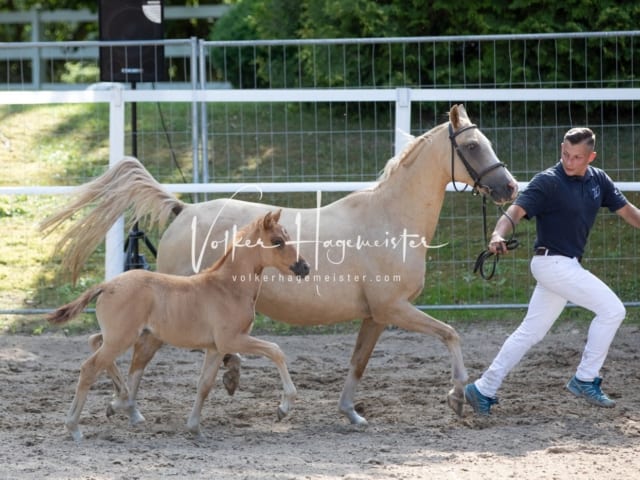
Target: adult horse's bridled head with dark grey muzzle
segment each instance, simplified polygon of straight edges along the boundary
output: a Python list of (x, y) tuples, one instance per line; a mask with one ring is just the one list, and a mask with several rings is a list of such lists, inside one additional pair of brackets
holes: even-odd
[(515, 199), (518, 183), (462, 105), (454, 105), (449, 112), (449, 139), (454, 180), (471, 185), (497, 204)]

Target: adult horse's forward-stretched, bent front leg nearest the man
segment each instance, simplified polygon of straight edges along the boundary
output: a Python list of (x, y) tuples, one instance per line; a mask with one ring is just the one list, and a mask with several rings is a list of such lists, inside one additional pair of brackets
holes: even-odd
[[(374, 315), (374, 318), (377, 313)], [(384, 317), (388, 323), (411, 332), (426, 333), (438, 337), (449, 349), (451, 354), (451, 370), (453, 388), (447, 395), (447, 404), (457, 415), (462, 415), (464, 405), (464, 384), (469, 378), (462, 359), (460, 336), (458, 332), (446, 323), (436, 320), (418, 310), (409, 302), (387, 306)]]

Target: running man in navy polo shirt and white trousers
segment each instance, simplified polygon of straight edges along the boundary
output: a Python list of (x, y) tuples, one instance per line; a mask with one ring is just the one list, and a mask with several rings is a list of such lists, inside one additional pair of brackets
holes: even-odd
[(566, 388), (593, 405), (615, 405), (601, 389), (600, 368), (626, 312), (618, 296), (580, 261), (601, 207), (636, 228), (640, 228), (640, 210), (627, 201), (603, 170), (590, 165), (596, 158), (595, 140), (588, 128), (569, 130), (560, 145), (560, 161), (535, 175), (507, 209), (510, 219), (503, 215), (496, 223), (489, 250), (505, 253), (505, 237), (511, 229), (522, 218), (535, 217), (531, 273), (537, 284), (520, 326), (482, 376), (465, 387), (467, 402), (476, 414), (490, 414), (491, 406), (498, 403), (496, 393), (504, 378), (542, 340), (567, 302), (591, 310), (595, 317), (580, 364)]

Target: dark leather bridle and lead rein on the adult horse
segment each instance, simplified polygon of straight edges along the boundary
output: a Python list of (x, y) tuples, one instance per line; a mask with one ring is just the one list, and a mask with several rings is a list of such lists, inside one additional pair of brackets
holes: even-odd
[[(454, 151), (455, 151), (455, 152), (458, 153), (458, 157), (462, 161), (462, 164), (467, 169), (467, 172), (469, 173), (469, 176), (473, 180), (473, 187), (472, 187), (473, 194), (474, 195), (478, 194), (481, 188), (483, 190), (486, 190), (487, 193), (491, 193), (491, 187), (489, 187), (487, 185), (483, 185), (481, 183), (482, 177), (484, 177), (487, 173), (492, 172), (496, 168), (500, 168), (500, 167), (507, 168), (507, 166), (502, 162), (494, 163), (493, 165), (490, 165), (487, 168), (485, 168), (484, 170), (482, 170), (480, 173), (478, 173), (471, 166), (469, 161), (465, 158), (464, 154), (462, 153), (462, 150), (460, 149), (460, 145), (458, 145), (458, 142), (456, 142), (456, 137), (458, 135), (460, 135), (462, 132), (466, 132), (467, 130), (471, 130), (473, 128), (478, 128), (478, 126), (472, 123), (471, 125), (467, 125), (466, 127), (462, 127), (457, 132), (454, 132), (453, 131), (453, 126), (451, 125), (451, 122), (449, 122), (449, 140), (451, 140), (451, 183), (453, 183), (453, 188), (454, 188), (454, 190), (456, 192), (464, 191), (467, 188), (467, 185), (465, 185), (465, 187), (462, 190), (458, 190), (458, 187), (456, 186), (456, 182), (455, 182), (455, 178), (454, 178), (454, 164), (455, 164)], [(509, 221), (511, 222), (511, 225), (512, 225), (511, 238), (509, 238), (505, 243), (506, 243), (506, 246), (507, 246), (507, 250), (513, 250), (514, 248), (518, 247), (518, 240), (515, 238), (515, 233), (516, 233), (515, 223), (511, 219), (511, 217), (509, 217), (507, 212), (504, 211), (504, 209), (502, 207), (498, 207), (498, 208), (499, 208), (500, 212), (502, 213), (502, 215), (505, 215), (509, 219)], [(482, 227), (483, 227), (483, 230), (484, 230), (484, 241), (485, 241), (485, 244), (488, 244), (489, 243), (489, 238), (488, 238), (488, 235), (487, 235), (487, 197), (486, 197), (486, 195), (482, 196)], [(473, 273), (479, 272), (480, 276), (482, 278), (484, 278), (485, 280), (490, 280), (491, 277), (493, 277), (493, 274), (496, 271), (496, 267), (498, 265), (498, 259), (500, 258), (500, 255), (499, 254), (495, 255), (492, 267), (491, 267), (491, 269), (490, 269), (490, 271), (488, 273), (485, 271), (484, 262), (486, 260), (488, 260), (490, 257), (492, 257), (493, 255), (494, 254), (489, 249), (483, 250), (480, 253), (480, 255), (478, 255), (478, 258), (476, 259), (476, 263), (475, 263), (474, 268), (473, 268)]]

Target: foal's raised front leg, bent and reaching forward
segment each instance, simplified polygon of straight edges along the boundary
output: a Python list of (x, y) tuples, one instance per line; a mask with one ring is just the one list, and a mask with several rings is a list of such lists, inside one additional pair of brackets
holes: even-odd
[(233, 352), (252, 353), (262, 355), (275, 363), (282, 380), (282, 400), (278, 406), (278, 420), (282, 420), (291, 410), (291, 406), (296, 398), (297, 391), (293, 385), (287, 362), (280, 347), (272, 342), (241, 334), (224, 343), (225, 348)]

